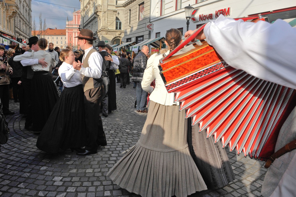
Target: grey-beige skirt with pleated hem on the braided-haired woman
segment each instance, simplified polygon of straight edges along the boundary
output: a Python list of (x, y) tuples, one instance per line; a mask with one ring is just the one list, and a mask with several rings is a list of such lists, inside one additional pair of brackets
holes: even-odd
[(107, 176), (142, 197), (185, 197), (206, 190), (188, 149), (187, 122), (179, 106), (150, 101), (141, 137)]

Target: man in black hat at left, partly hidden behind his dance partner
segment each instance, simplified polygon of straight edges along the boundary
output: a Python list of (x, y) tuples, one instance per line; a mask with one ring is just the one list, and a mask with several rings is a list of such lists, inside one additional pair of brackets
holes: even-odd
[[(38, 51), (38, 40), (39, 38), (37, 36), (33, 36), (29, 38), (29, 43), (27, 44), (30, 49), (28, 51), (25, 51), (24, 54), (30, 53), (32, 51)], [(25, 120), (25, 129), (32, 131), (33, 125), (32, 125), (32, 108), (31, 108), (31, 80), (34, 75), (34, 71), (31, 68), (31, 65), (33, 64), (41, 64), (44, 67), (47, 67), (47, 62), (44, 61), (45, 58), (42, 59), (24, 59), (21, 60), (20, 63), (23, 66), (22, 69), (22, 77), (20, 81), (17, 83), (20, 85), (20, 92), (23, 94), (23, 99), (20, 100), (20, 113), (27, 114), (26, 120)]]

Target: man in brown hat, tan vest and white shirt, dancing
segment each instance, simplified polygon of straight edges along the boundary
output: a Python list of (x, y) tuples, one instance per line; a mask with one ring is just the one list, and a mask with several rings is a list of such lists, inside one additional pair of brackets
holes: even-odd
[[(78, 38), (78, 44), (85, 51), (82, 64), (73, 62), (73, 68), (83, 74), (82, 85), (84, 91), (86, 130), (89, 132), (89, 142), (83, 152), (77, 155), (96, 154), (98, 146), (106, 146), (106, 136), (100, 117), (100, 108), (104, 86), (102, 82), (102, 56), (94, 49), (93, 41), (96, 40), (93, 32), (82, 29)], [(99, 120), (99, 121), (98, 121)]]

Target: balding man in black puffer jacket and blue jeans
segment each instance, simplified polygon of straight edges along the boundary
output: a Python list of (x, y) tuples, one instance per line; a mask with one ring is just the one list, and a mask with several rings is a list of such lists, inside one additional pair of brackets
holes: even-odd
[(142, 46), (141, 52), (133, 59), (133, 76), (132, 81), (137, 83), (136, 95), (137, 95), (137, 112), (146, 113), (146, 100), (148, 93), (142, 89), (141, 82), (143, 80), (144, 70), (147, 65), (147, 56), (149, 53), (148, 46)]

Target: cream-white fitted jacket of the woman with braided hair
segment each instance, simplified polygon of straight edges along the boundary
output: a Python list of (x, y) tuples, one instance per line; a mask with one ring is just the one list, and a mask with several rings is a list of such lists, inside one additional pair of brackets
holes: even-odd
[[(167, 51), (165, 54), (169, 54)], [(179, 102), (174, 102), (174, 93), (168, 93), (160, 76), (158, 68), (159, 60), (163, 55), (153, 54), (147, 60), (147, 67), (144, 71), (143, 80), (141, 82), (144, 91), (151, 93), (149, 99), (161, 105), (179, 105)], [(150, 86), (151, 82), (155, 80), (155, 89)]]

